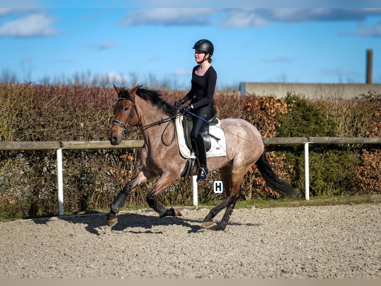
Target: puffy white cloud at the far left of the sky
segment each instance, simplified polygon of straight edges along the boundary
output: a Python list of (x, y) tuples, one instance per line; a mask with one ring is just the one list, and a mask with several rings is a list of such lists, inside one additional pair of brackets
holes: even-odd
[(59, 33), (58, 30), (52, 28), (53, 23), (53, 17), (44, 13), (33, 13), (5, 22), (0, 26), (0, 36), (51, 36)]

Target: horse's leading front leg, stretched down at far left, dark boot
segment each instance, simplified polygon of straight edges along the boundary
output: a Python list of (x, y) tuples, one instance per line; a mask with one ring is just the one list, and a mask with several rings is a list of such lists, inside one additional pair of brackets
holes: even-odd
[(153, 178), (154, 175), (152, 175), (149, 172), (146, 172), (144, 170), (141, 170), (139, 174), (133, 178), (131, 181), (126, 183), (122, 190), (119, 192), (117, 197), (114, 199), (114, 201), (110, 204), (110, 213), (107, 216), (107, 226), (113, 226), (118, 222), (118, 218), (116, 214), (119, 212), (120, 207), (126, 200), (129, 192), (136, 186), (145, 183), (149, 179)]

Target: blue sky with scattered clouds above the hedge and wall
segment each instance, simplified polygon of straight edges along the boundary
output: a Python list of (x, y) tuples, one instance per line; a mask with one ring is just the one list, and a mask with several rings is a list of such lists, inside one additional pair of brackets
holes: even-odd
[(238, 89), (240, 82), (365, 83), (367, 49), (373, 83), (381, 84), (381, 8), (356, 7), (356, 1), (346, 1), (348, 8), (273, 7), (280, 1), (261, 1), (264, 8), (239, 7), (252, 1), (237, 1), (236, 8), (183, 8), (165, 0), (160, 3), (173, 8), (155, 7), (156, 1), (129, 1), (150, 8), (123, 7), (123, 1), (76, 8), (70, 1), (66, 7), (8, 2), (0, 8), (0, 79), (57, 82), (77, 74), (189, 89), (196, 64), (191, 47), (206, 38), (214, 44), (219, 90)]

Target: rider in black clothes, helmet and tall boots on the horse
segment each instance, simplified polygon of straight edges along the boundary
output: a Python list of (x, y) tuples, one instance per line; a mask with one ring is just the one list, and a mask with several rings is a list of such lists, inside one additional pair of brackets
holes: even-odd
[[(191, 131), (191, 143), (199, 162), (197, 182), (206, 179), (208, 169), (206, 167), (205, 143), (200, 135), (202, 128), (207, 124), (214, 113), (213, 95), (217, 82), (217, 73), (211, 66), (211, 56), (214, 47), (209, 40), (197, 41), (193, 49), (194, 57), (198, 65), (193, 67), (191, 90), (181, 100), (175, 102), (175, 107), (179, 107), (191, 100), (191, 103), (180, 110), (180, 113), (192, 112), (197, 117), (193, 117), (193, 128)], [(202, 120), (202, 119), (203, 120)], [(205, 121), (204, 121), (205, 120)]]

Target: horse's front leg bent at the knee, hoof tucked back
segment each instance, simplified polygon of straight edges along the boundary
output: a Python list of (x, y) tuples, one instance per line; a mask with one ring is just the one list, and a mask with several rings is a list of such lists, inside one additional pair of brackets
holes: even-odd
[(173, 207), (167, 209), (163, 205), (161, 205), (157, 200), (156, 197), (164, 192), (170, 185), (172, 185), (174, 182), (176, 182), (176, 179), (173, 178), (171, 175), (162, 175), (161, 178), (156, 183), (155, 187), (152, 191), (147, 195), (147, 203), (148, 205), (154, 209), (160, 217), (165, 216), (182, 216), (181, 212), (177, 209), (174, 209)]

